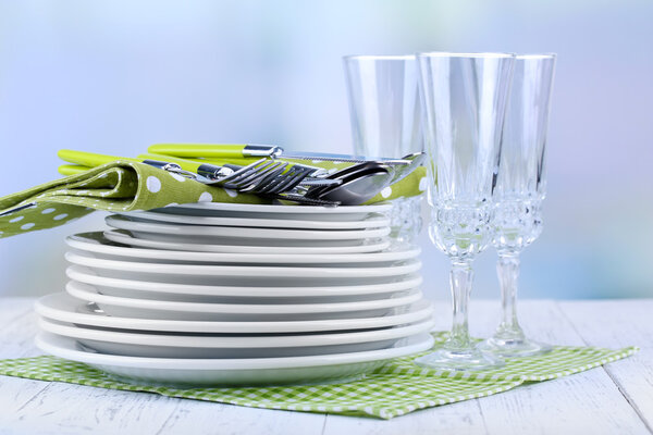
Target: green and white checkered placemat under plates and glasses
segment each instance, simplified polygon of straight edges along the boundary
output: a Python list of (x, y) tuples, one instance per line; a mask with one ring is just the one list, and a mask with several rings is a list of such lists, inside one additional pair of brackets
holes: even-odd
[[(434, 335), (440, 344), (446, 333)], [(56, 357), (0, 360), (0, 374), (245, 407), (392, 419), (418, 409), (490, 396), (525, 383), (578, 373), (629, 357), (638, 350), (637, 347), (611, 350), (556, 346), (543, 356), (508, 360), (504, 368), (485, 372), (422, 369), (412, 364), (419, 356), (415, 355), (392, 360), (360, 381), (275, 387), (176, 389), (133, 385), (118, 382), (86, 364)]]

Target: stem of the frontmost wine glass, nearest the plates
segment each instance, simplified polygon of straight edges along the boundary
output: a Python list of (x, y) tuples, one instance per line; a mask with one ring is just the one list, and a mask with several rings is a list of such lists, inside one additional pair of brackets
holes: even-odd
[(471, 261), (452, 261), (451, 286), (454, 304), (454, 323), (449, 338), (444, 345), (448, 349), (469, 349), (471, 347), (467, 325), (467, 308), (469, 306), (472, 278)]

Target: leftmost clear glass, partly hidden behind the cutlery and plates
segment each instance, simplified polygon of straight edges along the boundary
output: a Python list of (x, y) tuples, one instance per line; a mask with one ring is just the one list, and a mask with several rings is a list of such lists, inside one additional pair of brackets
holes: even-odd
[[(343, 58), (354, 152), (399, 158), (423, 150), (414, 55)], [(392, 201), (391, 236), (411, 243), (421, 231), (421, 197)]]

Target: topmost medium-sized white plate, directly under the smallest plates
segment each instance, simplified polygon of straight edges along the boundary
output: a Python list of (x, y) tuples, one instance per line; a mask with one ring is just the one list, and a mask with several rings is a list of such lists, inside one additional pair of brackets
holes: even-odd
[(365, 263), (367, 266), (383, 268), (392, 265), (397, 261), (416, 258), (420, 250), (403, 245), (384, 252), (369, 253), (332, 253), (332, 254), (285, 254), (279, 253), (220, 253), (220, 252), (189, 252), (170, 251), (159, 249), (138, 249), (115, 245), (108, 240), (101, 232), (81, 233), (69, 236), (65, 243), (85, 252), (91, 252), (94, 257), (113, 259), (121, 261), (148, 262), (193, 262), (193, 263), (239, 263), (257, 264), (269, 263), (280, 265), (291, 264), (325, 264), (330, 266), (350, 266)]

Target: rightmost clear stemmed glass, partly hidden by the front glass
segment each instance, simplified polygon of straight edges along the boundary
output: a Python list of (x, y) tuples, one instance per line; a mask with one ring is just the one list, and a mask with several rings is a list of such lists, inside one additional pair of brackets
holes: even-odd
[(502, 321), (480, 348), (503, 358), (543, 353), (551, 347), (529, 340), (517, 321), (519, 252), (542, 233), (546, 191), (545, 154), (555, 54), (515, 58), (515, 73), (502, 137), (501, 171), (494, 191), (496, 271)]

